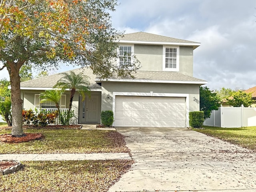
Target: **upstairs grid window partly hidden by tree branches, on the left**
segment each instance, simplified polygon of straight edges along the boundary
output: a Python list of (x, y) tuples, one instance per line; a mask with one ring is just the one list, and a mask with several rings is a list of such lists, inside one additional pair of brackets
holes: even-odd
[(132, 45), (119, 46), (119, 66), (130, 65), (132, 63), (132, 52), (134, 47)]

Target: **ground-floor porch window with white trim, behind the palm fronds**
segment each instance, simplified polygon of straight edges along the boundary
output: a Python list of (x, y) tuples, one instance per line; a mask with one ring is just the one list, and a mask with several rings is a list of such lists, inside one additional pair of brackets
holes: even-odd
[[(60, 108), (66, 108), (66, 95), (62, 95), (60, 98)], [(36, 108), (43, 108), (43, 109), (54, 109), (56, 108), (56, 105), (54, 102), (43, 102), (40, 103), (40, 94), (35, 94), (35, 102), (34, 102), (34, 106)]]

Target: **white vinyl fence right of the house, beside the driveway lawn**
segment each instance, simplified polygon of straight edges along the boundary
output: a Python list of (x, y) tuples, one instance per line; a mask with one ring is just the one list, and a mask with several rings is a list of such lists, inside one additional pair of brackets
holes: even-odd
[(223, 128), (256, 126), (256, 108), (221, 106), (211, 112), (211, 117), (204, 121), (204, 125)]

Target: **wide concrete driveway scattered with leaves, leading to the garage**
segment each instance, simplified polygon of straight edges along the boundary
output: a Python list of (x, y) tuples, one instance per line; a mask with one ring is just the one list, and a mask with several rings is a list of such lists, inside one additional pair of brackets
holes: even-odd
[(136, 161), (109, 192), (256, 192), (256, 153), (186, 128), (116, 128)]

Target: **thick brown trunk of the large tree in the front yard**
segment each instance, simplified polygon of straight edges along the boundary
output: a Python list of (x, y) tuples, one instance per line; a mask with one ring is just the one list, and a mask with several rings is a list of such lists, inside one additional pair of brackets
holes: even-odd
[(22, 99), (20, 97), (19, 70), (24, 62), (7, 62), (10, 75), (11, 100), (12, 100), (12, 136), (22, 136)]

